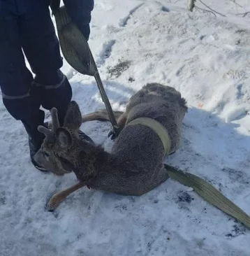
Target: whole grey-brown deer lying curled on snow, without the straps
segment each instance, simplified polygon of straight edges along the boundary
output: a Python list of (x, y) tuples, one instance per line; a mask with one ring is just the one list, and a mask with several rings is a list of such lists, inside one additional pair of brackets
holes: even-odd
[(164, 149), (159, 136), (143, 125), (126, 126), (135, 118), (152, 118), (168, 130), (170, 153), (179, 148), (182, 121), (187, 111), (186, 101), (172, 87), (149, 83), (135, 93), (124, 113), (116, 113), (119, 127), (111, 152), (101, 145), (81, 140), (78, 130), (83, 121), (108, 120), (105, 111), (82, 116), (78, 104), (71, 101), (59, 127), (57, 110), (52, 109), (52, 130), (38, 127), (45, 140), (35, 159), (46, 169), (64, 174), (73, 171), (80, 182), (68, 190), (54, 194), (48, 202), (49, 210), (56, 208), (68, 194), (87, 185), (95, 190), (140, 196), (154, 189), (168, 174), (163, 166)]

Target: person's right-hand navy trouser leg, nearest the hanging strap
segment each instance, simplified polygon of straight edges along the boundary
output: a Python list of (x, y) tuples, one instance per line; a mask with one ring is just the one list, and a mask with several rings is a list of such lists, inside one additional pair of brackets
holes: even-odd
[(41, 104), (45, 109), (57, 108), (60, 124), (71, 101), (72, 90), (61, 73), (63, 64), (59, 41), (54, 31), (46, 1), (30, 3), (29, 13), (20, 22), (22, 48), (36, 74), (34, 86), (41, 88)]

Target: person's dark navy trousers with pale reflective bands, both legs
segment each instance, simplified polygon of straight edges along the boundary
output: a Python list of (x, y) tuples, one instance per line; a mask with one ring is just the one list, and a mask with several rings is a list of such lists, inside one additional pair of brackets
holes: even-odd
[[(3, 104), (13, 118), (29, 124), (44, 116), (39, 111), (41, 106), (48, 110), (56, 107), (59, 118), (64, 118), (72, 97), (71, 85), (60, 71), (63, 62), (49, 3), (50, 0), (0, 0)], [(34, 76), (27, 69), (24, 55)]]

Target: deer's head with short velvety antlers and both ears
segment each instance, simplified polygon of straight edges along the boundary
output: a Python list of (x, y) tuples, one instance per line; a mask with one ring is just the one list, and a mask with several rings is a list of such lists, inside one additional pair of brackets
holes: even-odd
[(82, 125), (82, 115), (78, 104), (71, 101), (64, 119), (63, 127), (59, 126), (57, 108), (50, 111), (52, 129), (39, 126), (38, 131), (45, 134), (40, 150), (34, 156), (35, 161), (52, 173), (62, 175), (73, 171), (78, 161), (80, 143), (78, 130)]

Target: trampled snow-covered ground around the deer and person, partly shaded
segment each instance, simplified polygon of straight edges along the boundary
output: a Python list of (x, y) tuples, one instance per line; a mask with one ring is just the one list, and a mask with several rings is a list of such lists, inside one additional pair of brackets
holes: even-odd
[[(250, 2), (204, 2), (227, 17), (190, 13), (186, 1), (98, 0), (89, 45), (115, 110), (145, 83), (182, 93), (182, 145), (166, 162), (209, 180), (250, 214), (250, 14), (235, 15)], [(103, 107), (94, 78), (63, 69), (82, 113)], [(3, 104), (0, 117), (1, 256), (250, 255), (249, 230), (173, 180), (142, 197), (84, 188), (45, 211), (75, 176), (34, 169), (24, 128)], [(108, 123), (82, 130), (112, 147)]]

